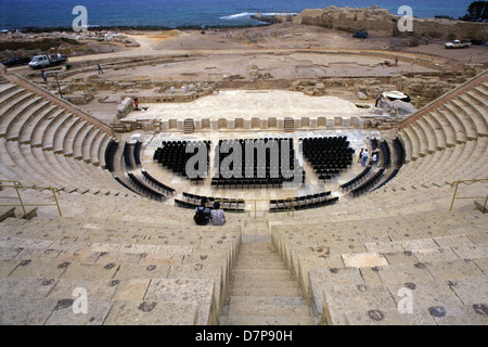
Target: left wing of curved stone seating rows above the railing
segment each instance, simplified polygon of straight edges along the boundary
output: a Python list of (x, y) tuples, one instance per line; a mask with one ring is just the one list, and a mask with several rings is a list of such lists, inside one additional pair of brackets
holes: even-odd
[(0, 107), (4, 179), (68, 192), (132, 194), (103, 169), (112, 134), (5, 79)]

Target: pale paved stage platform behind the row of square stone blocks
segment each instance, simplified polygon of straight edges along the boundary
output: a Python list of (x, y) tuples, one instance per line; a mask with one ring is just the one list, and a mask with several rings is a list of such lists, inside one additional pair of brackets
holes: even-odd
[(145, 112), (132, 111), (124, 119), (169, 120), (270, 119), (294, 117), (334, 118), (370, 115), (368, 110), (336, 97), (308, 97), (287, 90), (222, 90), (187, 103), (143, 103)]

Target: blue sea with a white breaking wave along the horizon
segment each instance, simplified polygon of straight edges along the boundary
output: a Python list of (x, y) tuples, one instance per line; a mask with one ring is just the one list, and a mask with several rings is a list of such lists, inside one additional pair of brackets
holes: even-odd
[(70, 27), (77, 14), (88, 10), (89, 26), (242, 26), (257, 25), (257, 12), (298, 13), (330, 5), (361, 8), (380, 5), (396, 14), (406, 4), (419, 17), (466, 13), (472, 0), (0, 0), (0, 29), (22, 27)]

